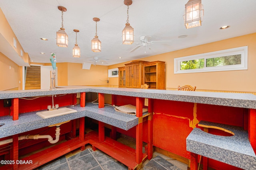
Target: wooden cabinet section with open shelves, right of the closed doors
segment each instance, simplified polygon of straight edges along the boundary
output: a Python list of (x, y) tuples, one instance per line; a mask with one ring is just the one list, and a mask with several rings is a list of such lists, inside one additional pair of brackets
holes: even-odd
[(153, 61), (143, 64), (143, 82), (151, 89), (165, 89), (165, 62)]

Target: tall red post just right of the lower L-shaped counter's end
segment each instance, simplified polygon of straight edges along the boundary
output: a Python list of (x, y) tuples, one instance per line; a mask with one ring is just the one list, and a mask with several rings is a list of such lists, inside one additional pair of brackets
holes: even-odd
[(153, 157), (153, 99), (148, 99), (148, 160)]

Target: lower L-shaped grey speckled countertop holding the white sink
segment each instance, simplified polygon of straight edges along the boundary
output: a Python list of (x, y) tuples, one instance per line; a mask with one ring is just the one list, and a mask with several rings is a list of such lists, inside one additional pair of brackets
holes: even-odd
[(128, 130), (138, 125), (138, 117), (117, 112), (112, 106), (98, 108), (98, 104), (86, 103), (86, 107), (72, 106), (69, 108), (75, 109), (77, 112), (43, 119), (36, 115), (36, 112), (38, 111), (32, 111), (19, 114), (19, 119), (15, 121), (12, 120), (12, 116), (1, 116), (0, 124), (4, 123), (4, 125), (0, 127), (0, 138), (68, 120), (78, 119), (80, 117), (90, 117), (124, 130)]

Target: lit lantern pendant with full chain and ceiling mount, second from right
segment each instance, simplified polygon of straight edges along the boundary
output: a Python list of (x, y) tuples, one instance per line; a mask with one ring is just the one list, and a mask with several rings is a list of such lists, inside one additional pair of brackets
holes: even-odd
[(132, 44), (134, 42), (133, 28), (129, 23), (129, 5), (132, 4), (132, 0), (124, 0), (124, 4), (127, 5), (127, 20), (125, 27), (122, 31), (123, 43), (122, 44)]

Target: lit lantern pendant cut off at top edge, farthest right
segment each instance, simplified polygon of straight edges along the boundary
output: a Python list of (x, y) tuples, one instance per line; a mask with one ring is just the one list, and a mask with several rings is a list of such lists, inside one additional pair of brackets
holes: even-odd
[(204, 10), (201, 0), (189, 0), (185, 4), (184, 24), (186, 28), (201, 26)]

